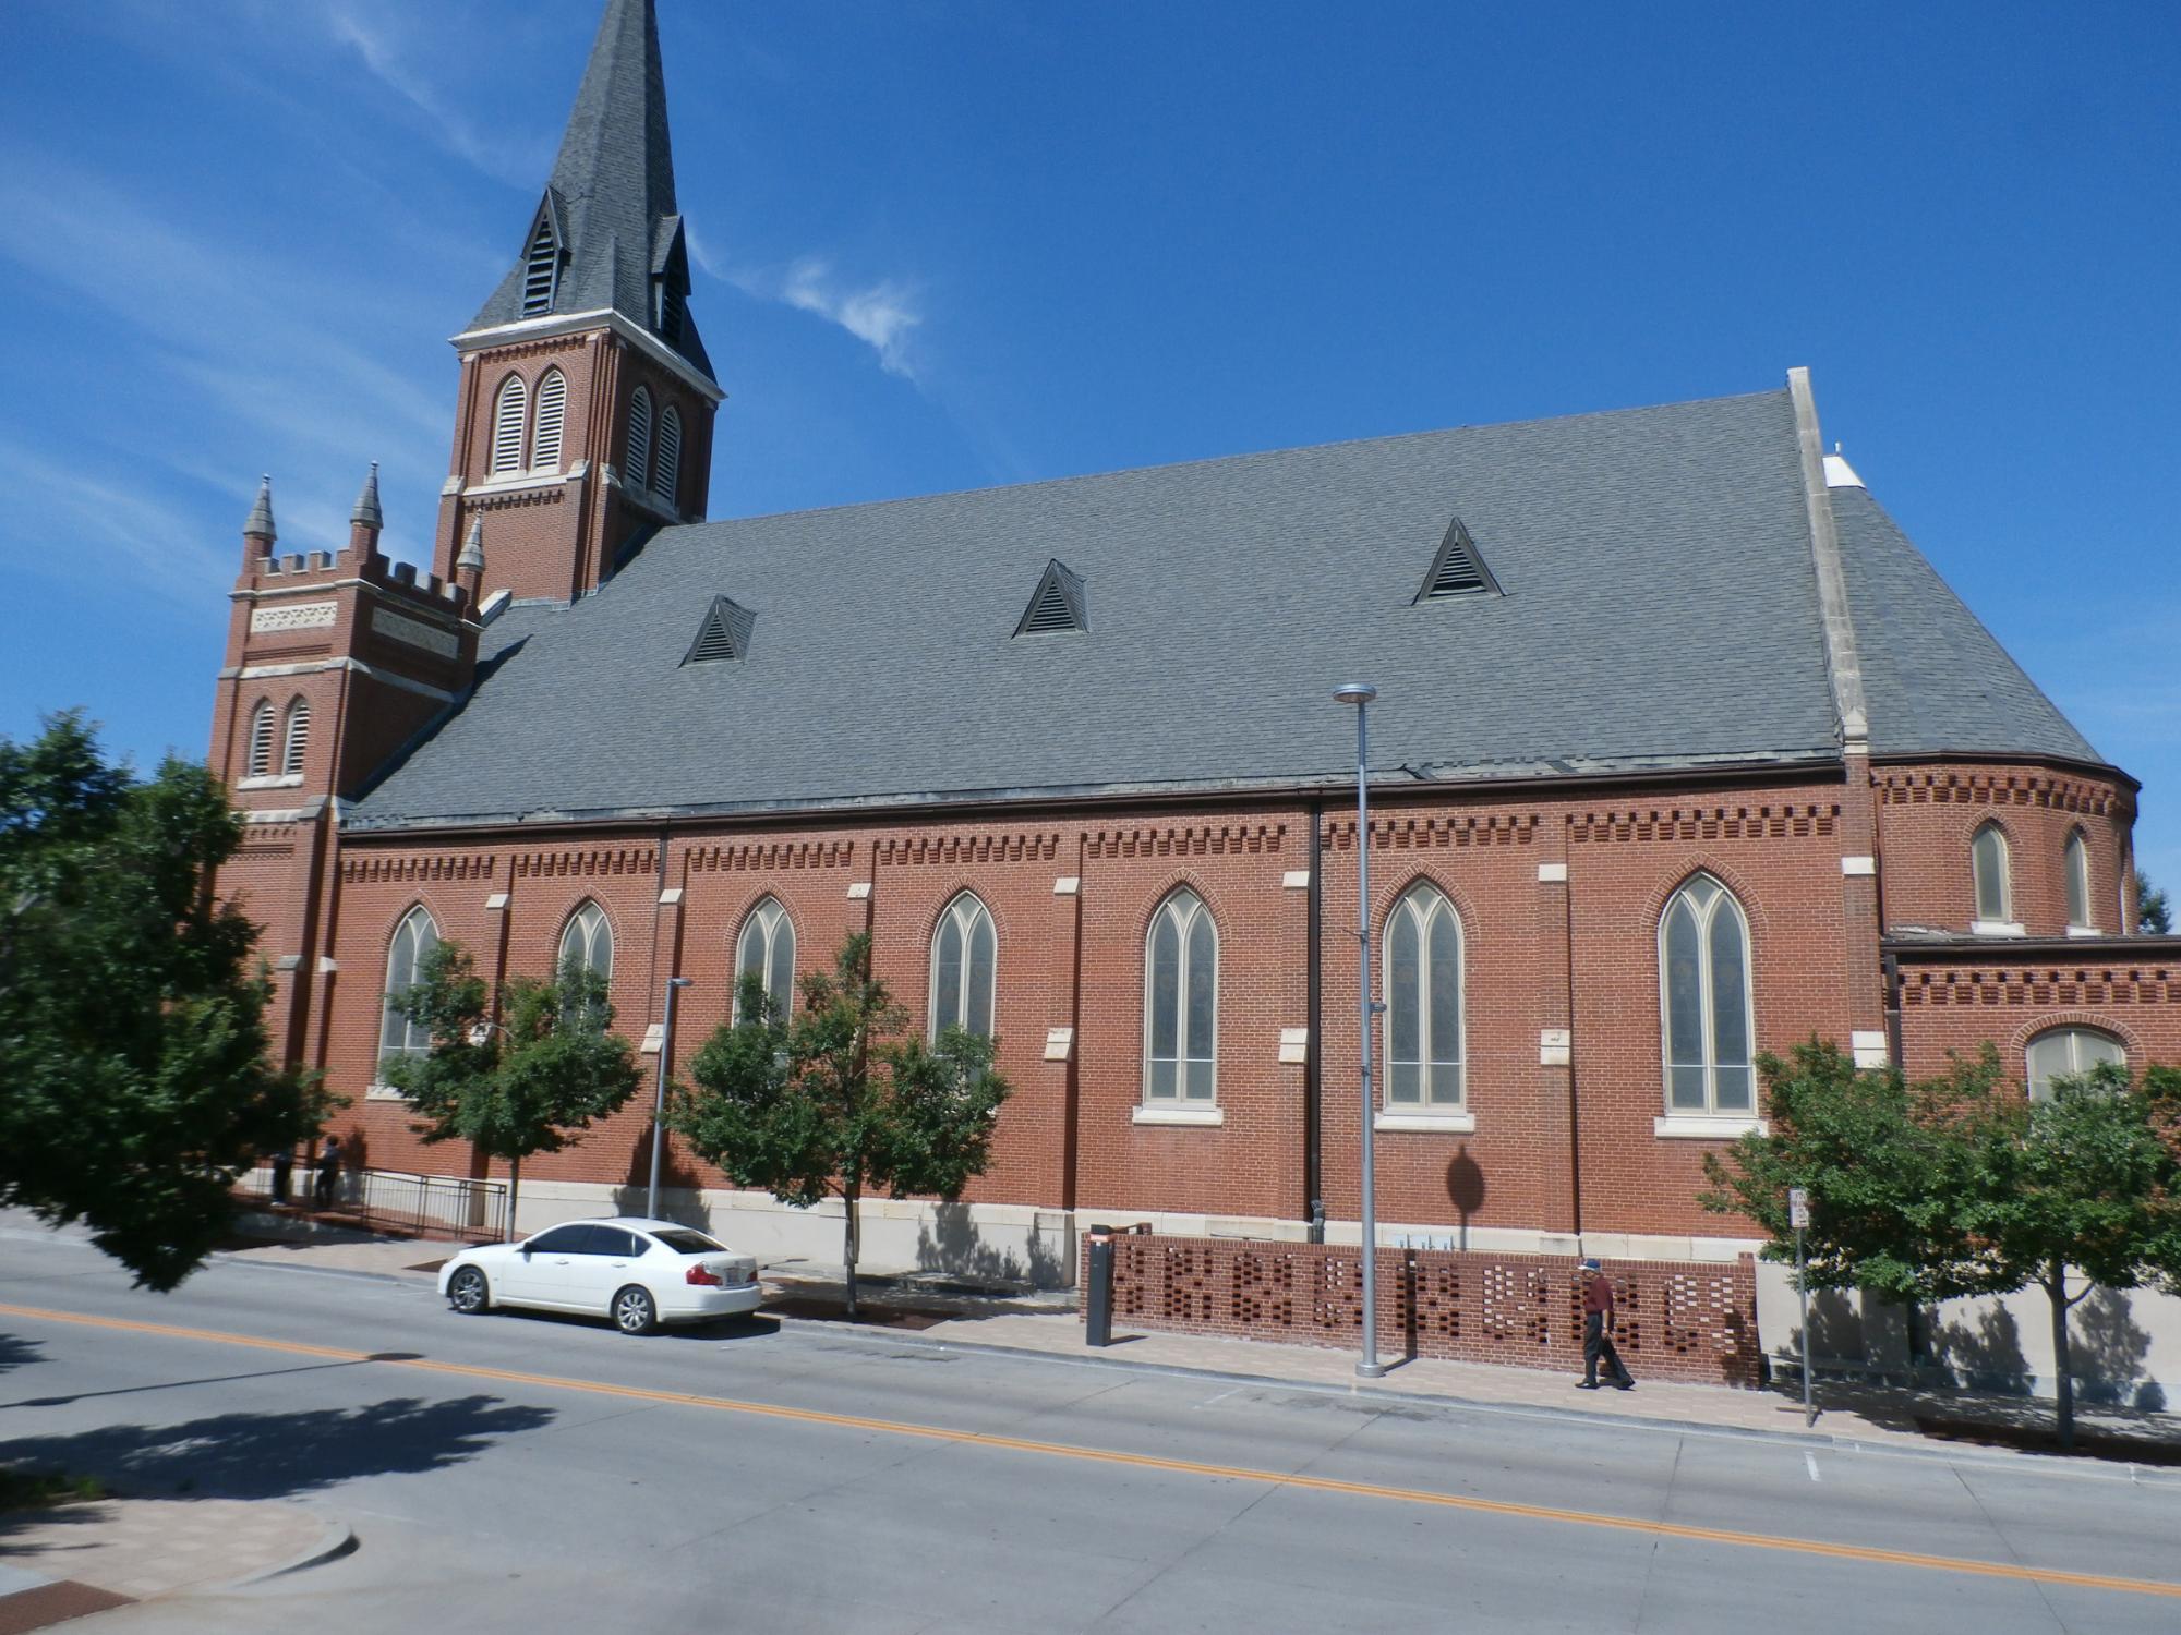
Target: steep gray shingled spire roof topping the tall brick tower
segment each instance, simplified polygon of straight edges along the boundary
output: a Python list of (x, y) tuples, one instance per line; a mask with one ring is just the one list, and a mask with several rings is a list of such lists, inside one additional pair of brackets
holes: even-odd
[[(552, 310), (619, 312), (711, 379), (696, 318), (685, 314), (674, 340), (661, 336), (654, 320), (652, 279), (667, 277), (687, 294), (689, 266), (674, 203), (667, 87), (652, 0), (611, 0), (606, 7), (547, 192), (558, 205), (567, 253)], [(521, 320), (528, 249), (526, 222), (515, 266), (471, 318), (471, 329)]]

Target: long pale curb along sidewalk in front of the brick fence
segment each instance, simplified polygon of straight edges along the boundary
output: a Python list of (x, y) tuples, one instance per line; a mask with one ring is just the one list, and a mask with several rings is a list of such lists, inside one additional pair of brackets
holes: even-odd
[[(757, 1312), (766, 1315), (766, 1312)], [(1123, 1369), (1128, 1373), (1154, 1373), (1176, 1380), (1219, 1380), (1226, 1384), (1252, 1384), (1272, 1391), (1304, 1391), (1322, 1397), (1352, 1397), (1365, 1402), (1398, 1402), (1405, 1406), (1448, 1408), (1457, 1413), (1492, 1413), (1514, 1419), (1551, 1417), (1581, 1424), (1607, 1426), (1614, 1430), (1664, 1430), (1677, 1437), (1732, 1437), (1738, 1441), (1760, 1441), (1775, 1448), (1828, 1448), (1843, 1454), (1871, 1454), (1880, 1458), (1921, 1458), (1941, 1465), (1974, 1463), (1991, 1469), (2022, 1472), (2031, 1476), (2078, 1476), (2085, 1480), (2129, 1482), (2131, 1487), (2181, 1489), (2181, 1469), (2166, 1465), (2135, 1465), (2126, 1461), (2092, 1458), (2089, 1454), (2020, 1454), (1987, 1448), (1921, 1448), (1867, 1441), (1863, 1437), (1836, 1437), (1823, 1430), (1764, 1430), (1756, 1426), (1721, 1426), (1708, 1419), (1651, 1419), (1644, 1415), (1601, 1413), (1575, 1404), (1553, 1406), (1544, 1402), (1479, 1402), (1474, 1397), (1453, 1397), (1431, 1391), (1400, 1391), (1383, 1384), (1322, 1384), (1317, 1380), (1287, 1380), (1276, 1373), (1239, 1373), (1232, 1369), (1204, 1369), (1186, 1362), (1138, 1362), (1125, 1356), (1077, 1356), (1073, 1352), (1043, 1352), (1029, 1345), (999, 1345), (995, 1341), (933, 1341), (923, 1334), (901, 1334), (885, 1330), (857, 1330), (816, 1317), (774, 1317), (781, 1328), (798, 1332), (822, 1332), (844, 1336), (855, 1345), (907, 1345), (923, 1352), (977, 1352), (984, 1356), (1043, 1358), (1090, 1369)], [(1084, 1347), (1086, 1352), (1090, 1347)], [(2033, 1463), (2035, 1461), (2035, 1463)], [(2041, 1463), (2055, 1461), (2055, 1463)]]

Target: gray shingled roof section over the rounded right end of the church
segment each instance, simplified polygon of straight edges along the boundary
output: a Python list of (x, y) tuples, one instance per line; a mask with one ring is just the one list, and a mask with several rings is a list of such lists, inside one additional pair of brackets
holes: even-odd
[(1873, 754), (2102, 761), (1863, 488), (1832, 491)]

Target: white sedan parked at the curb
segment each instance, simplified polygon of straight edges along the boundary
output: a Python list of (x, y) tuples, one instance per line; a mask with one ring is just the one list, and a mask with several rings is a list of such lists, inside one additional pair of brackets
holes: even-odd
[(438, 1269), (454, 1310), (493, 1306), (611, 1317), (624, 1334), (755, 1312), (757, 1260), (672, 1221), (565, 1221), (521, 1243), (462, 1249)]

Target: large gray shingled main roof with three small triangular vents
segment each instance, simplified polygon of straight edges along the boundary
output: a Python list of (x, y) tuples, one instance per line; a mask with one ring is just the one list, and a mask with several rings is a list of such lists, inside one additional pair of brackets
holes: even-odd
[[(1505, 595), (1411, 604), (1455, 514)], [(670, 528), (486, 645), (353, 826), (1335, 783), (1346, 680), (1431, 778), (1839, 754), (1786, 392)]]

